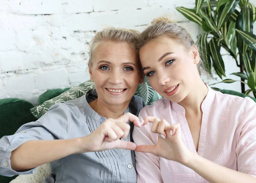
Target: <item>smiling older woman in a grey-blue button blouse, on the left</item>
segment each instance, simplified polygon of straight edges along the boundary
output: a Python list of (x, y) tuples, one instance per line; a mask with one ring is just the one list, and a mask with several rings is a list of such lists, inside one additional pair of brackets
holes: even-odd
[(0, 174), (30, 174), (51, 162), (44, 183), (136, 183), (129, 122), (140, 126), (136, 115), (144, 106), (133, 96), (142, 82), (138, 38), (128, 29), (96, 33), (88, 63), (96, 90), (55, 104), (36, 122), (2, 137)]

